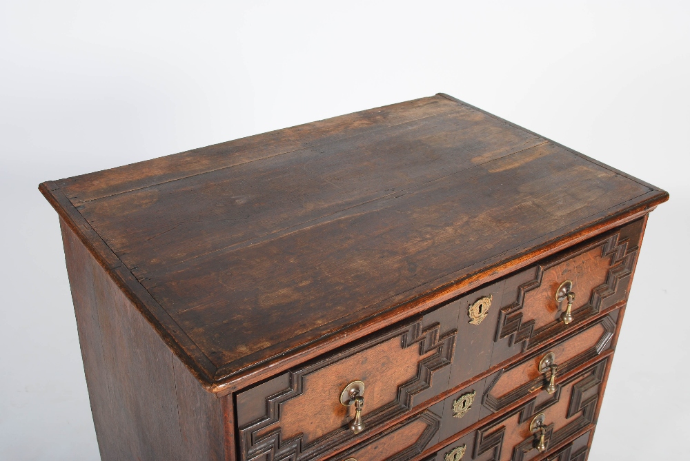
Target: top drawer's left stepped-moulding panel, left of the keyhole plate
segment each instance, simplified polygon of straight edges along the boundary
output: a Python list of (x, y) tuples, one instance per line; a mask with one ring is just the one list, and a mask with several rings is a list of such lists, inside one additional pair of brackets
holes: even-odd
[(435, 310), (238, 393), (240, 458), (311, 459), (364, 439), (366, 431), (348, 428), (355, 405), (341, 403), (342, 391), (354, 381), (364, 383), (368, 429), (448, 389), (457, 314), (446, 314)]

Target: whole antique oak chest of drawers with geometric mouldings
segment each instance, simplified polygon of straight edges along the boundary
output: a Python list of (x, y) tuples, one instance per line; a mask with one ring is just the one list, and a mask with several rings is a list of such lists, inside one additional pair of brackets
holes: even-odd
[(444, 94), (40, 189), (103, 460), (583, 461), (668, 199)]

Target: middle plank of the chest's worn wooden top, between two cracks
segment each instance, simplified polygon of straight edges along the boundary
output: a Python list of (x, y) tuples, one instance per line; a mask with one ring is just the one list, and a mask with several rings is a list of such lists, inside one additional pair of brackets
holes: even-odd
[[(81, 213), (99, 234), (112, 236), (108, 244), (123, 254), (128, 267), (148, 276), (475, 165), (458, 145), (473, 143), (490, 153), (490, 161), (545, 142), (505, 133), (502, 123), (484, 119), (460, 107), (442, 117), (396, 125), (375, 139), (354, 136), (108, 196), (83, 204)], [(107, 219), (101, 220), (103, 215)]]

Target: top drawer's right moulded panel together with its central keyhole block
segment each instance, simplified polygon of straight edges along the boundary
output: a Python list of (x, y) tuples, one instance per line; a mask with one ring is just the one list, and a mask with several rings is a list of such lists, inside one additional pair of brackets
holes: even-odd
[[(437, 308), (457, 315), (449, 388), (566, 333), (627, 298), (644, 218), (555, 254)], [(569, 323), (561, 319), (572, 282)], [(451, 316), (451, 312), (445, 316)]]

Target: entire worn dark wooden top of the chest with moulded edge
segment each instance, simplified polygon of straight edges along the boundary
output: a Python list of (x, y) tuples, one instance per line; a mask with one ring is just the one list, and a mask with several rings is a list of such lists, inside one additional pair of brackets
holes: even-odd
[(215, 391), (668, 198), (444, 94), (40, 189)]

